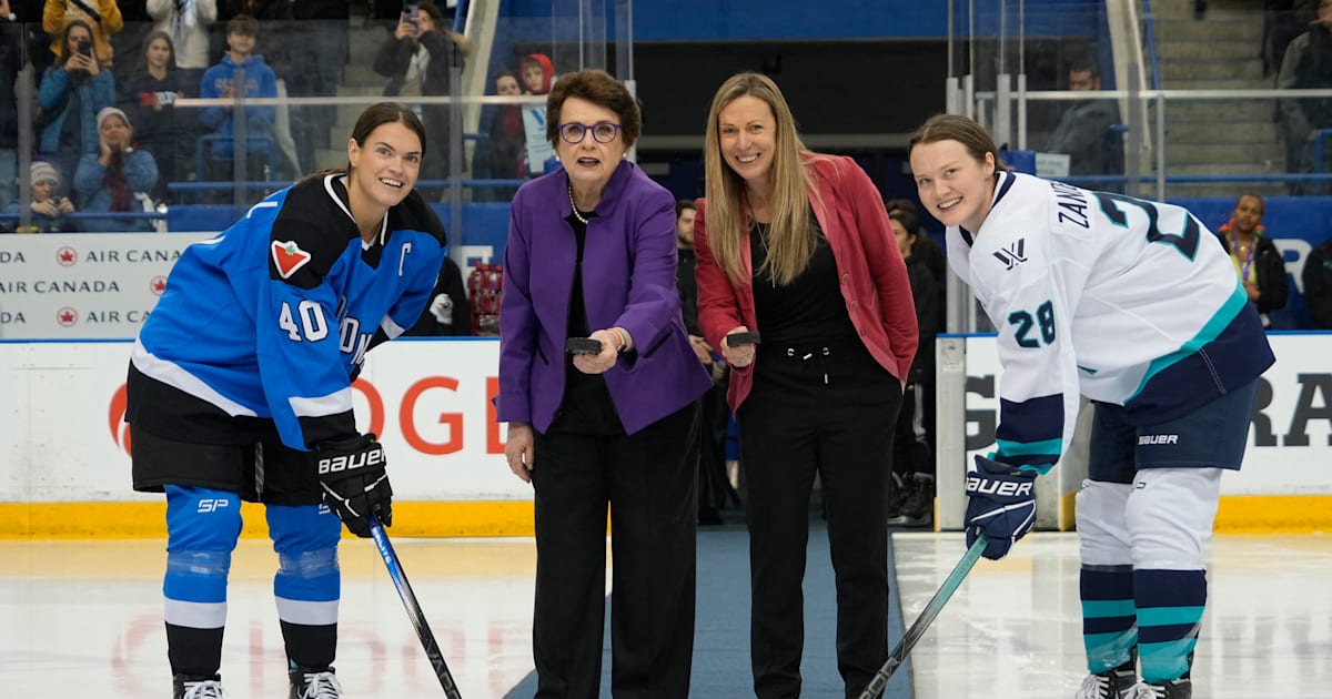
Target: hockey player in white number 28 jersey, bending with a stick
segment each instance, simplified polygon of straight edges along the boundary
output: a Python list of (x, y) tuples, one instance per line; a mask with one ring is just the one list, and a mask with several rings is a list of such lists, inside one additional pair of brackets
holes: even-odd
[(998, 449), (967, 478), (967, 543), (984, 531), (984, 555), (1002, 558), (1031, 529), (1034, 481), (1090, 398), (1078, 699), (1189, 699), (1203, 545), (1273, 361), (1228, 253), (1179, 206), (1008, 172), (966, 117), (931, 117), (908, 152), (998, 332)]

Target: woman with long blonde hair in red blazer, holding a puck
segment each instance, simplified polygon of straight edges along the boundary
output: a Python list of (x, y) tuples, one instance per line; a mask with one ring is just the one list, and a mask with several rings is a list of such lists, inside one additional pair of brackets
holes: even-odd
[[(846, 696), (859, 696), (887, 658), (886, 427), (916, 350), (906, 265), (874, 182), (848, 157), (807, 150), (769, 77), (739, 73), (718, 88), (703, 153), (698, 325), (731, 366), (749, 485), (754, 690), (801, 694), (801, 582), (819, 474), (838, 670)], [(761, 344), (729, 340), (750, 330)]]

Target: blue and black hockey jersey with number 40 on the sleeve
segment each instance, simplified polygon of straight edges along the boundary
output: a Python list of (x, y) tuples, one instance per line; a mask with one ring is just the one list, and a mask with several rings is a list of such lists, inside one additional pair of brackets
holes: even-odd
[(416, 192), (361, 238), (344, 176), (297, 182), (190, 245), (135, 344), (127, 422), (193, 443), (357, 433), (365, 353), (421, 316), (446, 237)]

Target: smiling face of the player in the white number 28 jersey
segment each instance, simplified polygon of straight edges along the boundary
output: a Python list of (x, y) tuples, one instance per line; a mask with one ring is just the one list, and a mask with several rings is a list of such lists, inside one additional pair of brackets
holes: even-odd
[(995, 158), (976, 160), (951, 138), (916, 144), (911, 149), (920, 204), (943, 225), (962, 226), (975, 233), (990, 213), (994, 192)]

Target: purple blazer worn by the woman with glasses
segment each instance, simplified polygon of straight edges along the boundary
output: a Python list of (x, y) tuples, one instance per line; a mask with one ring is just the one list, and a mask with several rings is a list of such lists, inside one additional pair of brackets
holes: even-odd
[[(500, 422), (545, 433), (565, 393), (569, 297), (578, 254), (565, 170), (513, 198), (500, 300)], [(694, 355), (675, 290), (675, 200), (621, 162), (587, 224), (583, 298), (590, 330), (621, 326), (635, 350), (603, 374), (633, 434), (698, 399), (713, 382)]]

